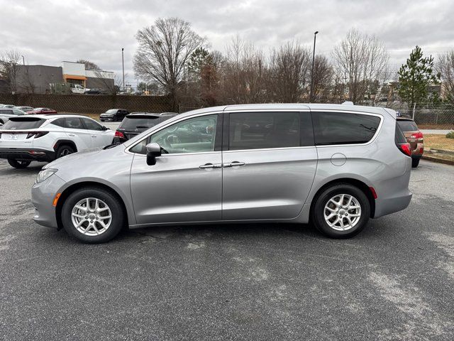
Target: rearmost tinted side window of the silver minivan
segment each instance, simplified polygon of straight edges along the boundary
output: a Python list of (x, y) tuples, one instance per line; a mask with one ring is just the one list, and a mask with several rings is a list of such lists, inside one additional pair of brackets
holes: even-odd
[(312, 121), (317, 146), (365, 144), (380, 125), (380, 117), (343, 112), (313, 112)]

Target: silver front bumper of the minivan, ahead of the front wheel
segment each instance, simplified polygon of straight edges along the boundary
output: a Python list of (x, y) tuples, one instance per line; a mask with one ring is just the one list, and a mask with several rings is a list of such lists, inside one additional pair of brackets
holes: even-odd
[(34, 222), (46, 227), (58, 228), (57, 215), (52, 202), (63, 185), (65, 185), (65, 181), (59, 178), (57, 174), (51, 175), (42, 183), (33, 185), (31, 188), (31, 202), (35, 207)]

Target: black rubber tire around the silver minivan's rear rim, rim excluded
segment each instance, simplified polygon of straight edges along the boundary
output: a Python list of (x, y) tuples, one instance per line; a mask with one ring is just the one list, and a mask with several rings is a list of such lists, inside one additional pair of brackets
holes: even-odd
[[(357, 200), (358, 203), (360, 204), (361, 210), (358, 221), (354, 224), (353, 227), (347, 227), (345, 231), (330, 227), (328, 222), (326, 222), (325, 220), (326, 204), (329, 202), (329, 200), (331, 200), (331, 198), (336, 197), (336, 195), (342, 194), (351, 195), (352, 197), (354, 197), (355, 200)], [(329, 211), (326, 210), (326, 212), (328, 214)], [(343, 209), (341, 208), (340, 212), (338, 213), (342, 214), (343, 212), (345, 211), (343, 211)], [(351, 213), (352, 211), (350, 210), (345, 213), (349, 212)], [(333, 220), (337, 219), (336, 215), (333, 216), (332, 218)], [(367, 196), (365, 195), (364, 192), (362, 192), (362, 190), (348, 183), (339, 183), (337, 185), (333, 185), (323, 190), (323, 192), (316, 197), (316, 200), (314, 201), (314, 205), (311, 210), (311, 221), (315, 225), (316, 229), (318, 229), (321, 233), (325, 234), (326, 236), (336, 239), (349, 238), (353, 237), (355, 234), (358, 234), (359, 232), (362, 231), (362, 229), (364, 229), (365, 225), (367, 224), (367, 221), (369, 220), (369, 217), (370, 217), (370, 202), (367, 199)], [(344, 220), (344, 215), (342, 215), (342, 222), (344, 221), (347, 222), (346, 219), (347, 218), (345, 218)]]

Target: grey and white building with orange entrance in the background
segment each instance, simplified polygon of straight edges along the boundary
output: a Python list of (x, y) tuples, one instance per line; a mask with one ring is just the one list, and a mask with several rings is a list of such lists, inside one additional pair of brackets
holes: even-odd
[(99, 87), (114, 92), (115, 74), (105, 70), (85, 70), (82, 63), (62, 62), (62, 66), (18, 65), (16, 92), (50, 93), (51, 83), (79, 84), (86, 88)]

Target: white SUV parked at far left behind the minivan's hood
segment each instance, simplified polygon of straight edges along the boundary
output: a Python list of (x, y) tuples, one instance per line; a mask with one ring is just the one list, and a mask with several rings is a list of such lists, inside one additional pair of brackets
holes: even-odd
[(0, 129), (0, 158), (15, 168), (111, 144), (115, 132), (78, 115), (11, 117)]

